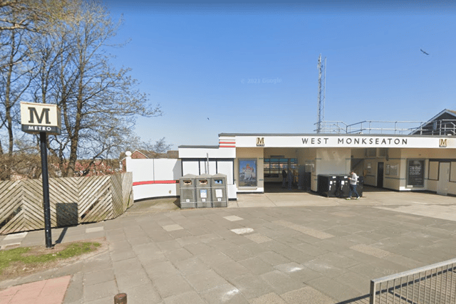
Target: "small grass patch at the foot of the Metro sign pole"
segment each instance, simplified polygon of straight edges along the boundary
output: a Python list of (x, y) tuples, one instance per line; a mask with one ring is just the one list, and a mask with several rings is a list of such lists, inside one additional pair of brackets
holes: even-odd
[[(33, 270), (42, 270), (58, 261), (90, 253), (101, 246), (98, 242), (75, 242), (58, 244), (48, 249), (43, 246), (14, 248), (0, 251), (0, 277), (27, 274)], [(34, 271), (33, 271), (34, 272)]]

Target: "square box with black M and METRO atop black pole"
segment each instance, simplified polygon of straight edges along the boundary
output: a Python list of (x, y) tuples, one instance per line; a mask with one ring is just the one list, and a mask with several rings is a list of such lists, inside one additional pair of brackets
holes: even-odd
[(27, 133), (61, 134), (60, 110), (46, 103), (21, 103), (22, 130)]

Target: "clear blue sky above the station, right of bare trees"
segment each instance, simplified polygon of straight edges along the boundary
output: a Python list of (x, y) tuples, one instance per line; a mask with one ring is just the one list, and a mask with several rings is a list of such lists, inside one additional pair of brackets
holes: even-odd
[(320, 53), (325, 120), (456, 110), (451, 1), (236, 2), (105, 1), (113, 19), (123, 14), (115, 41), (130, 39), (110, 50), (113, 63), (132, 68), (164, 112), (138, 119), (143, 140), (165, 137), (177, 149), (217, 145), (222, 132), (313, 133)]

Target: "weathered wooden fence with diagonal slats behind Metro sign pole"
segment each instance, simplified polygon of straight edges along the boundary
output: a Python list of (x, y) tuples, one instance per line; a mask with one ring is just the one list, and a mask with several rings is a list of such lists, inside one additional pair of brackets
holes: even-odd
[[(114, 219), (133, 204), (131, 172), (49, 179), (51, 226)], [(44, 228), (41, 179), (0, 182), (0, 234)]]

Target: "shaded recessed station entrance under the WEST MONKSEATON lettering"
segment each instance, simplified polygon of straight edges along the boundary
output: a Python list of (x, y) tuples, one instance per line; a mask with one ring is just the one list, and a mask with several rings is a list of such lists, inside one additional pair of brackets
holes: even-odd
[(284, 177), (284, 171), (293, 174), (291, 189), (304, 192), (317, 191), (318, 174), (353, 171), (363, 184), (378, 189), (394, 189), (392, 182), (404, 179), (398, 170), (400, 149), (266, 147), (263, 155), (264, 192), (289, 191), (290, 180)]

